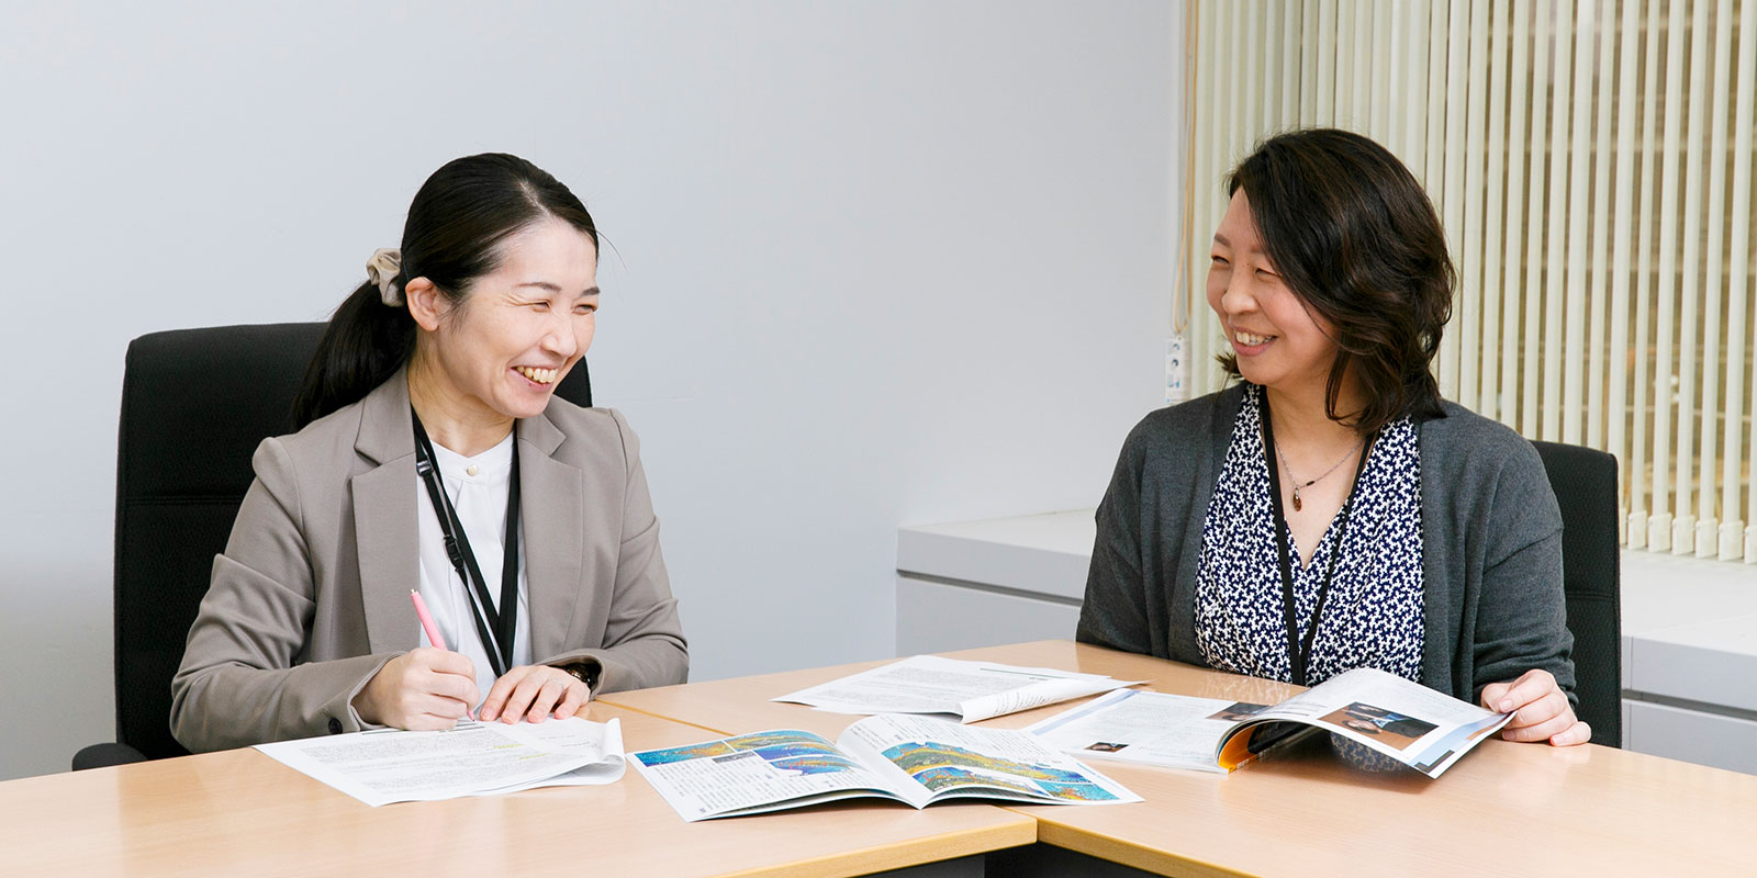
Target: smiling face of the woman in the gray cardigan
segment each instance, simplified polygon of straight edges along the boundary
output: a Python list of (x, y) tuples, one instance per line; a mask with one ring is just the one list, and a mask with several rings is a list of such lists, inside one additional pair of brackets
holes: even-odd
[(1242, 188), (1226, 205), (1209, 258), (1209, 307), (1226, 330), (1244, 379), (1323, 400), (1337, 355), (1335, 328), (1269, 262)]

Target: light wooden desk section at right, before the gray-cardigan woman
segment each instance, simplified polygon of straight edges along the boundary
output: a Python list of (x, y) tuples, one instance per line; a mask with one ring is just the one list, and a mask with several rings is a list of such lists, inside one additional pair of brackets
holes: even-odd
[[(1293, 692), (1068, 641), (945, 655), (1153, 680), (1160, 692), (1235, 701)], [(878, 664), (606, 699), (726, 734), (791, 727), (835, 738), (854, 716), (766, 699)], [(1066, 708), (984, 725), (1023, 727)], [(1351, 769), (1318, 741), (1233, 774), (1093, 764), (1147, 802), (1012, 810), (1037, 818), (1044, 843), (1161, 874), (1757, 873), (1757, 778), (1592, 745), (1490, 739), (1437, 781)]]

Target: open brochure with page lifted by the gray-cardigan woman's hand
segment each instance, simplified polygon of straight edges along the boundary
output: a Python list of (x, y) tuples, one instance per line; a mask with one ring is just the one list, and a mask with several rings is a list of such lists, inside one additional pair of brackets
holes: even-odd
[(1362, 667), (1281, 704), (1119, 690), (1024, 730), (1088, 759), (1232, 771), (1323, 729), (1437, 778), (1511, 718)]

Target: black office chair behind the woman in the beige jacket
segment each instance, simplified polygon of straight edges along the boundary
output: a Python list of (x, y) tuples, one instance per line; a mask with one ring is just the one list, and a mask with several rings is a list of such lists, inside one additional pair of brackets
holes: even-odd
[[(323, 323), (155, 332), (128, 344), (116, 441), (116, 738), (74, 769), (188, 755), (170, 736), (170, 678), (232, 520), (249, 458), (292, 428)], [(592, 406), (582, 360), (555, 392)]]

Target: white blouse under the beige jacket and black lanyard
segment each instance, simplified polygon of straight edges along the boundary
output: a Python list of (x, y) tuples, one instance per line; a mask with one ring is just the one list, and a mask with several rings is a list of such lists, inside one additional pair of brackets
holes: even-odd
[[(515, 430), (517, 432), (517, 430)], [(450, 448), (434, 443), (434, 458), (439, 464), (439, 478), (445, 492), (457, 509), (464, 534), (469, 536), (469, 548), (476, 555), (476, 567), (488, 585), (495, 611), (501, 604), (501, 571), (506, 560), (506, 488), (513, 471), (513, 434), (506, 434), (501, 444), (476, 455), (464, 457)], [(488, 662), (488, 650), (476, 634), (474, 611), (467, 585), (459, 578), (457, 569), (445, 553), (445, 532), (439, 530), (439, 515), (427, 497), (427, 485), (415, 478), (415, 507), (420, 522), (422, 601), (439, 627), (443, 644), (429, 643), (422, 630), (422, 646), (445, 646), (469, 657), (476, 666), (476, 688), (481, 697), (488, 697), (494, 688), (494, 664)], [(524, 527), (518, 529), (518, 557), (525, 557)], [(531, 588), (527, 585), (525, 565), (518, 565), (518, 623), (513, 629), (513, 667), (531, 664)], [(480, 704), (478, 704), (480, 706)]]

